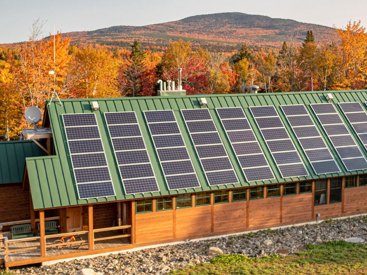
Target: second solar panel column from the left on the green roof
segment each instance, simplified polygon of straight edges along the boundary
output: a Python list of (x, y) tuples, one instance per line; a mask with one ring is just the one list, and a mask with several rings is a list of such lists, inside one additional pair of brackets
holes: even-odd
[(126, 194), (159, 191), (135, 112), (105, 113)]

